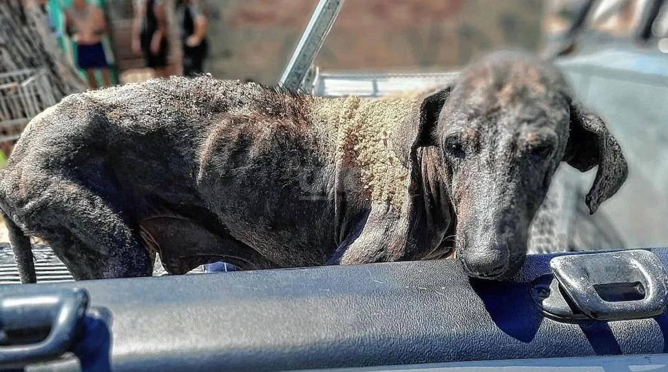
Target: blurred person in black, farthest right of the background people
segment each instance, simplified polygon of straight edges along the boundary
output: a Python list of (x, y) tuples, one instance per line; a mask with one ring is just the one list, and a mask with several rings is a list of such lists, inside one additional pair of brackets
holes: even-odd
[(182, 45), (182, 68), (185, 76), (204, 72), (209, 52), (207, 16), (198, 0), (179, 1), (179, 23)]

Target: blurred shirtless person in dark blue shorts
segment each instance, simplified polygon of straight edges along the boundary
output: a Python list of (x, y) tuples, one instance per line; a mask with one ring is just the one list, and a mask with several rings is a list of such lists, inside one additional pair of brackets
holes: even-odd
[(102, 10), (86, 0), (74, 0), (72, 7), (65, 10), (65, 27), (76, 43), (76, 65), (85, 70), (88, 85), (98, 88), (95, 70), (100, 70), (104, 86), (111, 86), (109, 63), (102, 45), (102, 37), (108, 32)]

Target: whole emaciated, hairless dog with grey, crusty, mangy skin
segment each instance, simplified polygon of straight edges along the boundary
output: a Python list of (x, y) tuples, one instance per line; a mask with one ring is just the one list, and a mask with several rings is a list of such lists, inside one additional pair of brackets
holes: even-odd
[(496, 53), (417, 99), (324, 99), (254, 83), (154, 79), (75, 94), (0, 171), (23, 282), (47, 240), (75, 279), (443, 258), (521, 267), (561, 161), (598, 165), (591, 213), (627, 164), (556, 68)]

